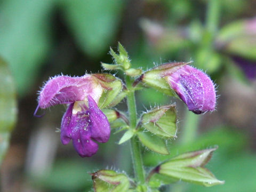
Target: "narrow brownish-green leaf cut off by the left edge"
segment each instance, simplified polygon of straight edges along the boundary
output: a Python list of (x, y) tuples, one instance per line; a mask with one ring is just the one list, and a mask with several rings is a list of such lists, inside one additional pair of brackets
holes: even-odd
[(3, 161), (11, 131), (17, 119), (14, 82), (7, 64), (0, 58), (0, 165)]

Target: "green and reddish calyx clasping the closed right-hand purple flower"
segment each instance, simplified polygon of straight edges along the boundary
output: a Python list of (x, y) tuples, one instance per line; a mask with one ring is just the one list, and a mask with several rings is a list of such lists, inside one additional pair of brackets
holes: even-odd
[(167, 83), (166, 79), (163, 78), (168, 74), (172, 74), (177, 71), (182, 66), (188, 65), (191, 62), (172, 62), (166, 63), (165, 65), (160, 65), (146, 71), (142, 74), (137, 81), (142, 81), (146, 86), (153, 87), (154, 89), (165, 93), (167, 95), (175, 96), (175, 92), (170, 89), (170, 85)]

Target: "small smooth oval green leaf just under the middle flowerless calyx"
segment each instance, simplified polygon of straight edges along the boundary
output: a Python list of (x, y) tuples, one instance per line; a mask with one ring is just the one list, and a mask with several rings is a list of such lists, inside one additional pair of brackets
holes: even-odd
[(137, 135), (142, 144), (150, 150), (163, 155), (169, 154), (165, 141), (157, 135), (153, 135), (150, 132), (137, 132)]

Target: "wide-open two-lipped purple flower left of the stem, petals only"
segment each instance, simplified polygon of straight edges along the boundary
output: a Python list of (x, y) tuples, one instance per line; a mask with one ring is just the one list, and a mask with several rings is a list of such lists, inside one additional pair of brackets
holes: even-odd
[[(38, 107), (69, 103), (61, 122), (61, 142), (73, 146), (81, 157), (97, 153), (98, 142), (107, 142), (110, 125), (97, 103), (103, 88), (92, 75), (82, 77), (58, 76), (50, 79), (38, 98)], [(95, 140), (95, 141), (94, 141)]]

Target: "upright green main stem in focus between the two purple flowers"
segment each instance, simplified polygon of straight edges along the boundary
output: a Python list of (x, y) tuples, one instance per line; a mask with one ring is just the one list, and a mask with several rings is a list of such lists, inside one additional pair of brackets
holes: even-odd
[[(127, 107), (130, 115), (130, 126), (131, 129), (135, 130), (137, 125), (137, 109), (134, 91), (132, 90), (132, 80), (129, 76), (126, 76), (125, 80), (127, 89), (129, 90), (129, 93), (127, 94)], [(135, 178), (140, 184), (143, 184), (145, 183), (145, 171), (143, 169), (140, 142), (137, 137), (132, 137), (131, 139), (131, 153)]]

